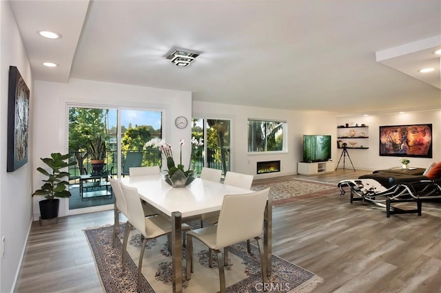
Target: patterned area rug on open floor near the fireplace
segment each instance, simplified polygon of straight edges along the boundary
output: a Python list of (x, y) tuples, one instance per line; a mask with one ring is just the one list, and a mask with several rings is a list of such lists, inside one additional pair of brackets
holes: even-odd
[(281, 178), (278, 182), (267, 184), (257, 182), (252, 186), (254, 191), (265, 188), (270, 188), (269, 194), (273, 198), (273, 207), (340, 192), (336, 184), (300, 179), (283, 180)]

